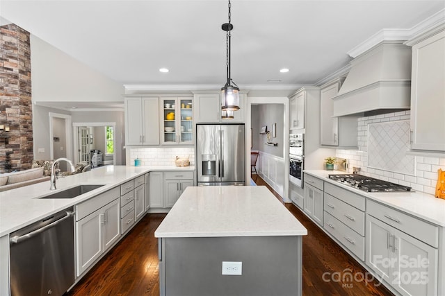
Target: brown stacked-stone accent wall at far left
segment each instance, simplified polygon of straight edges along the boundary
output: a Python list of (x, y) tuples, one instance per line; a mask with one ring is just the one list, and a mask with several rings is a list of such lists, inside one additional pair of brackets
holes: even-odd
[[(0, 173), (31, 168), (33, 125), (31, 103), (31, 46), (29, 32), (15, 24), (0, 26)], [(5, 138), (7, 137), (7, 139)]]

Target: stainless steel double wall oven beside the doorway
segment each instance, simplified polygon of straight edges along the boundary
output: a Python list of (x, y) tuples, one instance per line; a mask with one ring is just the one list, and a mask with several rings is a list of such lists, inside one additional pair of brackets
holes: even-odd
[(289, 134), (289, 181), (303, 187), (304, 134)]

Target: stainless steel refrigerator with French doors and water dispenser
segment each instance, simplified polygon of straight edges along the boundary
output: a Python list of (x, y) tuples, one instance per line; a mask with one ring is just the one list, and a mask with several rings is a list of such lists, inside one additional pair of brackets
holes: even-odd
[(198, 186), (245, 185), (243, 124), (197, 124)]

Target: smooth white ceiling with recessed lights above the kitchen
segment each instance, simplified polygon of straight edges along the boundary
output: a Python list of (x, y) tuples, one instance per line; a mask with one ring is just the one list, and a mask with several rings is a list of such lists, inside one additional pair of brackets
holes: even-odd
[[(232, 79), (241, 88), (313, 85), (383, 28), (412, 28), (442, 8), (444, 0), (232, 0)], [(124, 85), (222, 87), (227, 12), (223, 0), (0, 0), (1, 17)]]

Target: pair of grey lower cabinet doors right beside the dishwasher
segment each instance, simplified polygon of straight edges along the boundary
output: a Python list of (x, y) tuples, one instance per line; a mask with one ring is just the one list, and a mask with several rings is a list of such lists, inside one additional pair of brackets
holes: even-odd
[(120, 198), (76, 222), (76, 275), (79, 277), (120, 237)]

